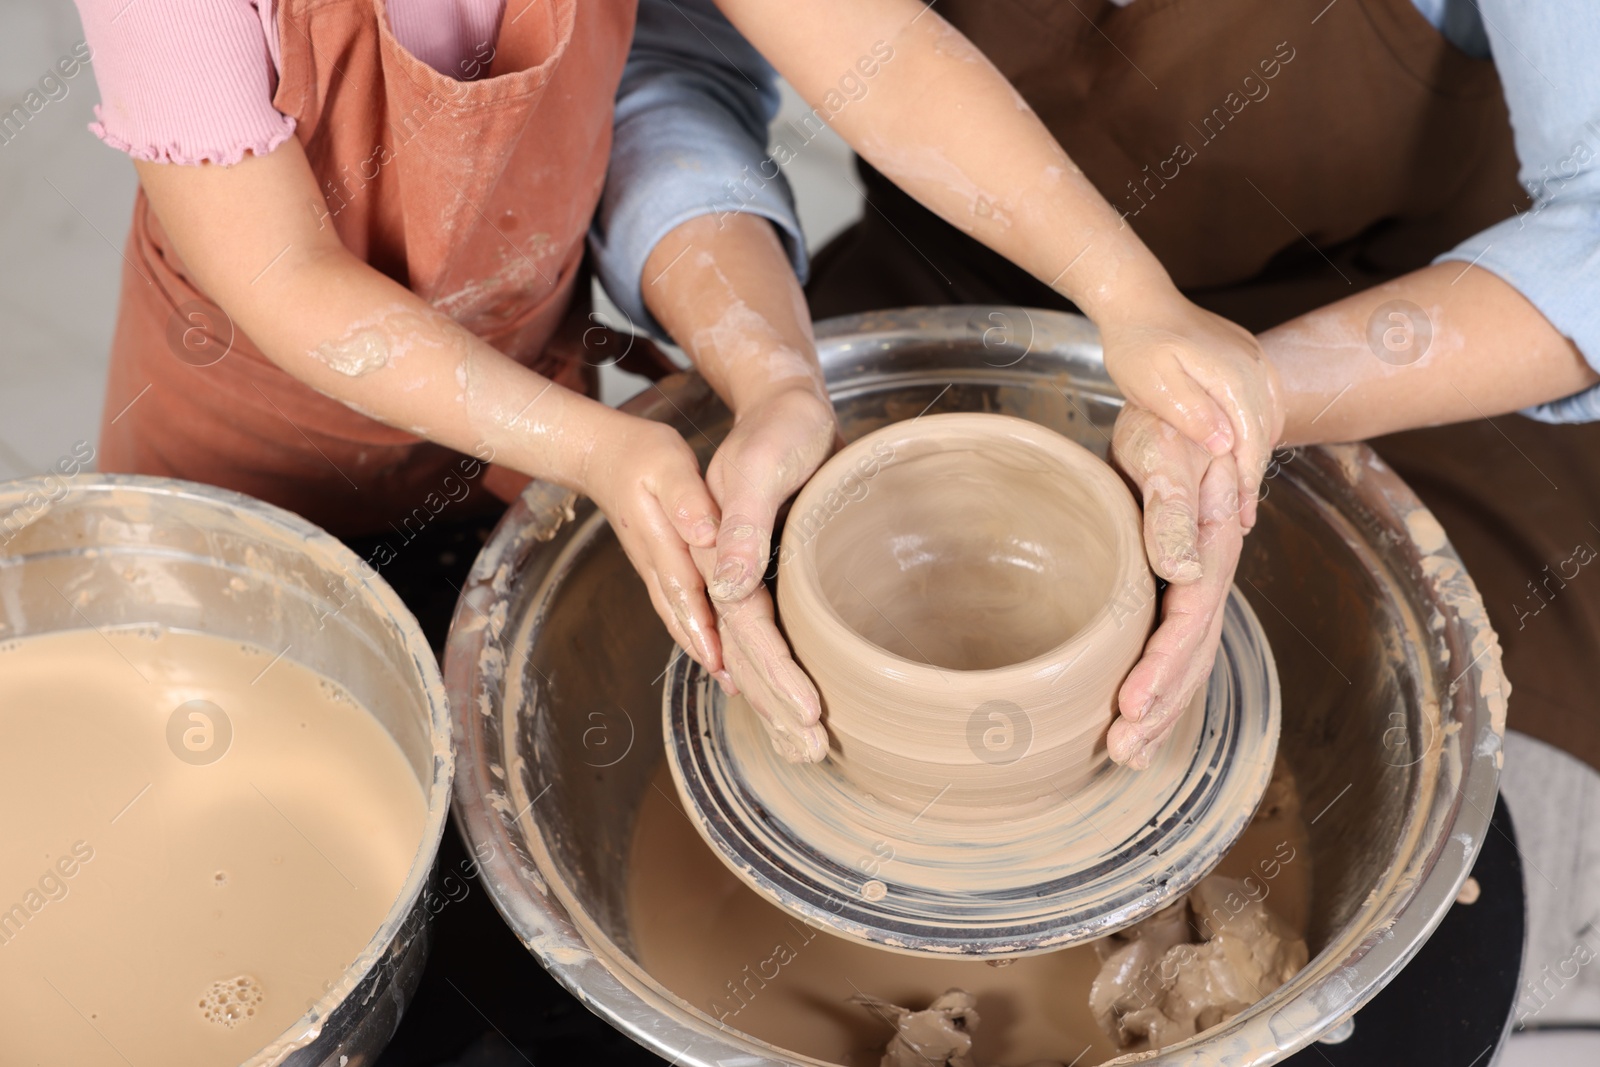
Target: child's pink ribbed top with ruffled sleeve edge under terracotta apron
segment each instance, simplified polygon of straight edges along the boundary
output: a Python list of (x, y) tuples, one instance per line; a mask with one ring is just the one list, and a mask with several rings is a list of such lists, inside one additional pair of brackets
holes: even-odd
[[(294, 133), (272, 107), (275, 0), (77, 0), (101, 102), (90, 130), (152, 163), (237, 163)], [(462, 82), (488, 72), (506, 0), (389, 0), (413, 56)]]

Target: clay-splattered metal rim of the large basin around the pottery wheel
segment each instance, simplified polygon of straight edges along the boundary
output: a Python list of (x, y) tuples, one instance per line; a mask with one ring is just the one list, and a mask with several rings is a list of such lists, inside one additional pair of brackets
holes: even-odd
[[(970, 371), (974, 381), (1014, 378), (1021, 384), (1050, 382), (1058, 390), (1070, 384), (1106, 403), (1120, 403), (1104, 373), (1098, 333), (1078, 315), (1014, 307), (901, 309), (818, 323), (816, 338), (835, 400), (893, 378), (877, 360), (898, 350), (942, 347), (982, 352), (982, 365)], [(1024, 368), (1027, 360), (1045, 363), (1045, 370)], [(949, 387), (963, 373), (947, 366), (923, 379), (931, 389)], [(691, 432), (686, 411), (698, 413), (709, 402), (704, 382), (678, 378), (637, 397), (626, 410)], [(1437, 721), (1430, 725), (1430, 763), (1424, 766), (1429, 773), (1418, 776), (1402, 853), (1382, 872), (1371, 907), (1363, 909), (1365, 921), (1339, 931), (1298, 976), (1227, 1024), (1146, 1054), (1141, 1062), (1254, 1067), (1342, 1024), (1438, 926), (1490, 829), (1507, 685), (1498, 641), (1459, 557), (1448, 544), (1424, 550), (1416, 542), (1408, 518), (1426, 515), (1426, 509), (1365, 445), (1307, 450), (1290, 478), (1314, 498), (1310, 507), (1352, 549), (1360, 549), (1363, 563), (1379, 571), (1376, 581), (1427, 633), (1429, 646), (1416, 643), (1397, 654), (1435, 683)], [(493, 859), (483, 864), (485, 886), (546, 969), (640, 1045), (699, 1067), (816, 1062), (690, 1008), (645, 974), (590, 917), (570, 910), (560, 899), (560, 870), (550, 862), (544, 837), (555, 830), (533, 813), (538, 797), (525, 805), (509, 800), (506, 728), (515, 726), (518, 710), (498, 704), (506, 670), (498, 638), (510, 625), (507, 601), (518, 584), (534, 587), (528, 632), (538, 635), (541, 605), (562, 568), (571, 565), (560, 539), (563, 526), (571, 533), (573, 518), (573, 494), (550, 485), (533, 483), (514, 502), (474, 566), (446, 646), (445, 681), (461, 761), (456, 814), (469, 845), (493, 848)], [(578, 533), (590, 523), (603, 518), (589, 515), (578, 523)], [(552, 539), (557, 544), (546, 547)], [(1278, 659), (1282, 665), (1282, 654)]]

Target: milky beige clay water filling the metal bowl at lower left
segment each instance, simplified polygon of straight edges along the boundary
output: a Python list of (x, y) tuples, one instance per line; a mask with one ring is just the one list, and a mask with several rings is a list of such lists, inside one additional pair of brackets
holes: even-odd
[(426, 800), (277, 649), (166, 630), (0, 645), (0, 1065), (232, 1065), (365, 949)]

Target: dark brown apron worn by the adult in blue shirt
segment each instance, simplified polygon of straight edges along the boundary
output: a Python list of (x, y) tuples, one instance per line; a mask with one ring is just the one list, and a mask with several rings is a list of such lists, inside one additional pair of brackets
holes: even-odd
[[(1174, 282), (1251, 330), (1421, 267), (1526, 203), (1493, 64), (1445, 42), (1411, 0), (938, 10), (1013, 80)], [(1070, 307), (861, 171), (861, 222), (813, 266), (816, 317)], [(1600, 549), (1600, 424), (1507, 418), (1376, 446), (1438, 514), (1483, 592), (1515, 688), (1510, 725), (1600, 768), (1600, 573), (1584, 573), (1600, 566), (1573, 561), (1579, 545)]]

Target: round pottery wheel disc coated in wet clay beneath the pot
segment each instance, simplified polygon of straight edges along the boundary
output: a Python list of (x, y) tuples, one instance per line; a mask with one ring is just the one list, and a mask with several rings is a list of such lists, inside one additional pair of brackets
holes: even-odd
[(685, 809), (757, 893), (854, 941), (994, 957), (1122, 929), (1222, 859), (1270, 781), (1280, 715), (1272, 653), (1237, 589), (1200, 699), (1147, 769), (1107, 761), (1059, 803), (974, 821), (938, 798), (920, 814), (878, 803), (832, 760), (786, 763), (688, 656), (662, 693)]

